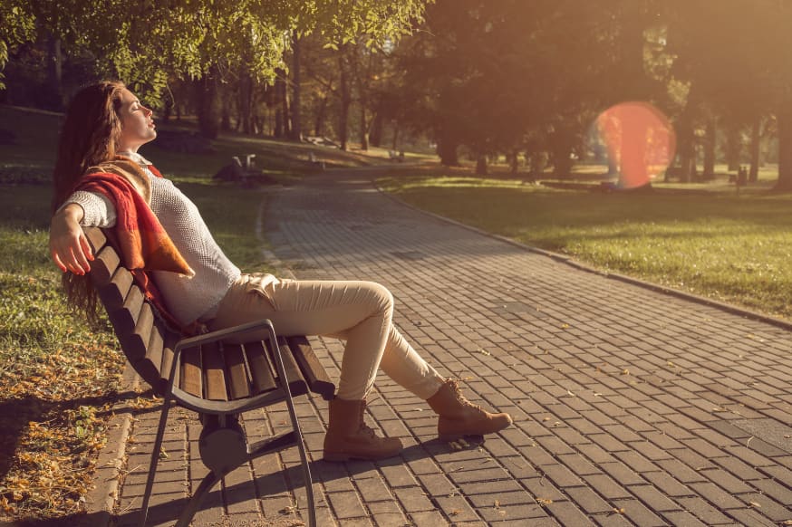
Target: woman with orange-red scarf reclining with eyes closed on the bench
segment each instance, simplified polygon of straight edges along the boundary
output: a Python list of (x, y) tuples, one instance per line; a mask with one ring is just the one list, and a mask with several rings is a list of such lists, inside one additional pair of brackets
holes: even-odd
[[(118, 81), (74, 97), (63, 123), (53, 181), (50, 251), (65, 273), (69, 300), (96, 315), (85, 275), (93, 259), (82, 226), (111, 228), (125, 264), (161, 316), (185, 331), (215, 331), (270, 319), (283, 335), (328, 335), (346, 341), (324, 458), (381, 459), (401, 451), (363, 422), (377, 369), (425, 399), (438, 414), (441, 440), (495, 433), (511, 424), (462, 396), (401, 337), (391, 321), (391, 293), (377, 283), (292, 281), (241, 273), (217, 246), (198, 209), (161, 177), (138, 149), (157, 137), (152, 111)], [(123, 245), (123, 243), (121, 243)], [(178, 302), (169, 302), (178, 299)]]

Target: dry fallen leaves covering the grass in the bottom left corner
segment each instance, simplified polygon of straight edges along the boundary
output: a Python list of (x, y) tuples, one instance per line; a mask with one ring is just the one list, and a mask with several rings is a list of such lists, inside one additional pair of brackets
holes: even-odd
[[(0, 513), (56, 518), (84, 511), (123, 356), (101, 342), (50, 353), (2, 351)], [(13, 359), (15, 358), (15, 360)]]

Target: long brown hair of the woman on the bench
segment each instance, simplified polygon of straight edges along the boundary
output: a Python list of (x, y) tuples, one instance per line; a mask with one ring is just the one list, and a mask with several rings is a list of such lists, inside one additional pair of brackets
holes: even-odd
[[(89, 167), (115, 158), (121, 137), (120, 81), (101, 81), (74, 95), (58, 141), (53, 171), (53, 214), (72, 194)], [(98, 320), (96, 292), (87, 275), (63, 273), (63, 290), (73, 307), (89, 321)]]

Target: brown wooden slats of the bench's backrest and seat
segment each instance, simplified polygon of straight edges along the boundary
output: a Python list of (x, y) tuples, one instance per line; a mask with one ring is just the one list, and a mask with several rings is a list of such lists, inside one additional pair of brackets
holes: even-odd
[[(132, 274), (101, 229), (85, 228), (94, 261), (91, 280), (107, 311), (130, 365), (158, 393), (164, 393), (173, 363), (173, 349), (182, 338), (154, 314)], [(309, 389), (326, 399), (335, 386), (304, 337), (279, 338), (292, 395)], [(198, 398), (232, 400), (277, 388), (271, 345), (253, 340), (242, 344), (217, 342), (183, 350), (175, 384)]]

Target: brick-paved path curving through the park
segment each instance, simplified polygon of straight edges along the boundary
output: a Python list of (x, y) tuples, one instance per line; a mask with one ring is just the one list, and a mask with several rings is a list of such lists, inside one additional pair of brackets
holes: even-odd
[[(455, 452), (433, 440), (427, 405), (381, 376), (371, 412), (404, 440), (401, 458), (325, 464), (326, 405), (303, 398), (320, 525), (792, 524), (792, 332), (450, 225), (352, 172), (277, 191), (269, 211), (267, 235), (298, 277), (387, 285), (401, 331), (439, 372), (516, 419)], [(337, 373), (339, 343), (314, 342)], [(157, 415), (134, 424), (118, 524), (137, 520)], [(279, 407), (245, 425), (256, 437), (286, 420)], [(172, 523), (205, 474), (188, 456), (198, 432), (179, 413), (170, 422), (155, 521)], [(291, 449), (237, 470), (195, 524), (299, 522), (300, 474), (279, 472), (297, 462)]]

